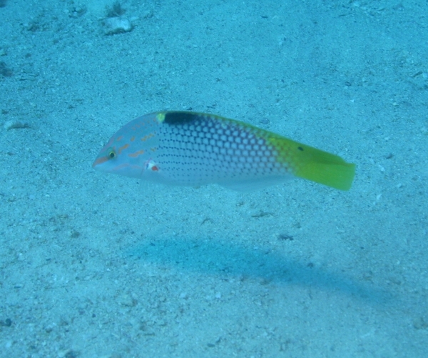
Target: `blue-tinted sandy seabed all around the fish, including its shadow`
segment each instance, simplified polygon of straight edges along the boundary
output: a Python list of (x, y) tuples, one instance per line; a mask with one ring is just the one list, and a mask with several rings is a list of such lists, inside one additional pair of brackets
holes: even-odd
[[(428, 355), (428, 4), (0, 5), (0, 357)], [(354, 185), (93, 171), (166, 109), (338, 154)]]

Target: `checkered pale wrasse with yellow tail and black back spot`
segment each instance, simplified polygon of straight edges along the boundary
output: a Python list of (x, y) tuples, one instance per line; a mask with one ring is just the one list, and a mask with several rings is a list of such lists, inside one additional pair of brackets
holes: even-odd
[(160, 184), (249, 192), (299, 177), (349, 190), (355, 164), (252, 124), (215, 114), (158, 111), (113, 134), (92, 164)]

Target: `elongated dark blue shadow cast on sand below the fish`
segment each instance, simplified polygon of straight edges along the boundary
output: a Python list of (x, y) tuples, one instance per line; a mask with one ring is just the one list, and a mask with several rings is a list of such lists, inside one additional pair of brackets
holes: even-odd
[(224, 240), (146, 239), (126, 250), (125, 254), (145, 262), (192, 272), (314, 287), (374, 305), (385, 304), (393, 298), (391, 292), (370, 282), (353, 279), (345, 270), (334, 272), (325, 267), (316, 267), (311, 262), (297, 261), (266, 249), (251, 249)]

